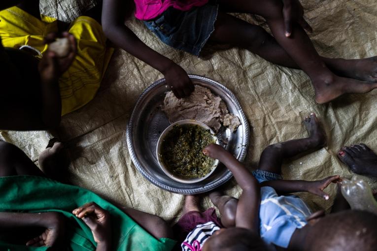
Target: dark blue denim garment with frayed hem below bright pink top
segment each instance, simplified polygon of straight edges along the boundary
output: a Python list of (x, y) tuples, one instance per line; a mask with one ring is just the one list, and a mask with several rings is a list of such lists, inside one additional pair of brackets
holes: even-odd
[(144, 21), (145, 26), (165, 44), (199, 56), (214, 31), (218, 5), (207, 3), (188, 11), (168, 8), (159, 17)]

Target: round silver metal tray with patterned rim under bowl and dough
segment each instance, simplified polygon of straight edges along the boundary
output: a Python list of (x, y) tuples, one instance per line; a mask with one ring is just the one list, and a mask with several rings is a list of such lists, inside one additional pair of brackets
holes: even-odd
[[(201, 85), (220, 96), (227, 105), (229, 113), (239, 117), (241, 125), (236, 132), (222, 126), (217, 133), (220, 144), (237, 159), (243, 161), (249, 144), (249, 126), (236, 96), (225, 86), (209, 78), (189, 75), (194, 85)], [(137, 99), (130, 121), (127, 125), (127, 145), (137, 170), (152, 184), (175, 193), (195, 194), (209, 191), (227, 182), (232, 173), (222, 164), (206, 180), (183, 184), (169, 178), (160, 168), (156, 158), (156, 146), (160, 134), (170, 123), (161, 110), (165, 94), (170, 91), (165, 79), (149, 86)], [(227, 142), (227, 144), (226, 144)]]

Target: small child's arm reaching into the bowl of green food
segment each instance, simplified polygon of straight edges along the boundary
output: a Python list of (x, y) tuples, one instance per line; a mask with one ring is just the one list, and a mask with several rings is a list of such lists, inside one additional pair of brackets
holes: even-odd
[(210, 144), (203, 150), (206, 156), (219, 159), (235, 177), (242, 188), (237, 205), (236, 227), (243, 227), (259, 234), (260, 188), (254, 176), (231, 153), (219, 145)]

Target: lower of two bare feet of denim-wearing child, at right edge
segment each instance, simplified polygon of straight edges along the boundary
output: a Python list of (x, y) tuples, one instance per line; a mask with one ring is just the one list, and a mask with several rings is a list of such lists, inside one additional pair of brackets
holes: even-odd
[(315, 89), (315, 101), (328, 103), (343, 94), (368, 93), (377, 88), (376, 82), (363, 82), (336, 75), (312, 81)]

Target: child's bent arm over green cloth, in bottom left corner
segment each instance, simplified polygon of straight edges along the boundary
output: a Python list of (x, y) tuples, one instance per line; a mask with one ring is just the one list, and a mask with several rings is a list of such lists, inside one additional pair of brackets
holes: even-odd
[(64, 239), (65, 224), (63, 216), (57, 212), (47, 213), (0, 213), (0, 232), (8, 229), (45, 227), (46, 230), (26, 243), (27, 246), (60, 245)]

